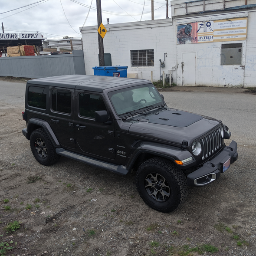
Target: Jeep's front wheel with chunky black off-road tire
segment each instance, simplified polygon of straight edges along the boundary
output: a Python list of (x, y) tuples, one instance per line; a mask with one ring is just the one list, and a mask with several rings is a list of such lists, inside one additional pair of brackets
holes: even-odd
[[(149, 183), (150, 178), (152, 182)], [(175, 210), (188, 193), (184, 173), (171, 161), (158, 157), (141, 164), (136, 173), (136, 185), (144, 202), (163, 213)]]

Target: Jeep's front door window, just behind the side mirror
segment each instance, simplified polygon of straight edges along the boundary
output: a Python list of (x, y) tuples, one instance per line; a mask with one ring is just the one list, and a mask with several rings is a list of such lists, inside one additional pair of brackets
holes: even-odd
[(82, 117), (95, 118), (95, 111), (99, 110), (107, 110), (101, 96), (87, 93), (79, 94), (79, 112)]

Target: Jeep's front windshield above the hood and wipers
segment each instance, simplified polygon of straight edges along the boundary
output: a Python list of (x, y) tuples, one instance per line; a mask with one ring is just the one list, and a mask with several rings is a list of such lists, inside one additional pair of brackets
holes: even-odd
[(109, 92), (108, 97), (118, 115), (163, 103), (158, 90), (151, 84)]

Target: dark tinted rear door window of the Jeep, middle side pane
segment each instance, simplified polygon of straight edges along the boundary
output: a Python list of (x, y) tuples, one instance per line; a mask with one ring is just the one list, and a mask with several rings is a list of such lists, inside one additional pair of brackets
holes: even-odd
[(71, 114), (71, 92), (66, 90), (52, 90), (53, 111)]

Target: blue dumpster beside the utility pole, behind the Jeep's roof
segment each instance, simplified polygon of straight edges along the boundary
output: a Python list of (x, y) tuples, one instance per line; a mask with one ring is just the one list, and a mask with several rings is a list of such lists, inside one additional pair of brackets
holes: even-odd
[(128, 66), (103, 66), (94, 67), (94, 75), (105, 75), (115, 77), (127, 77)]

